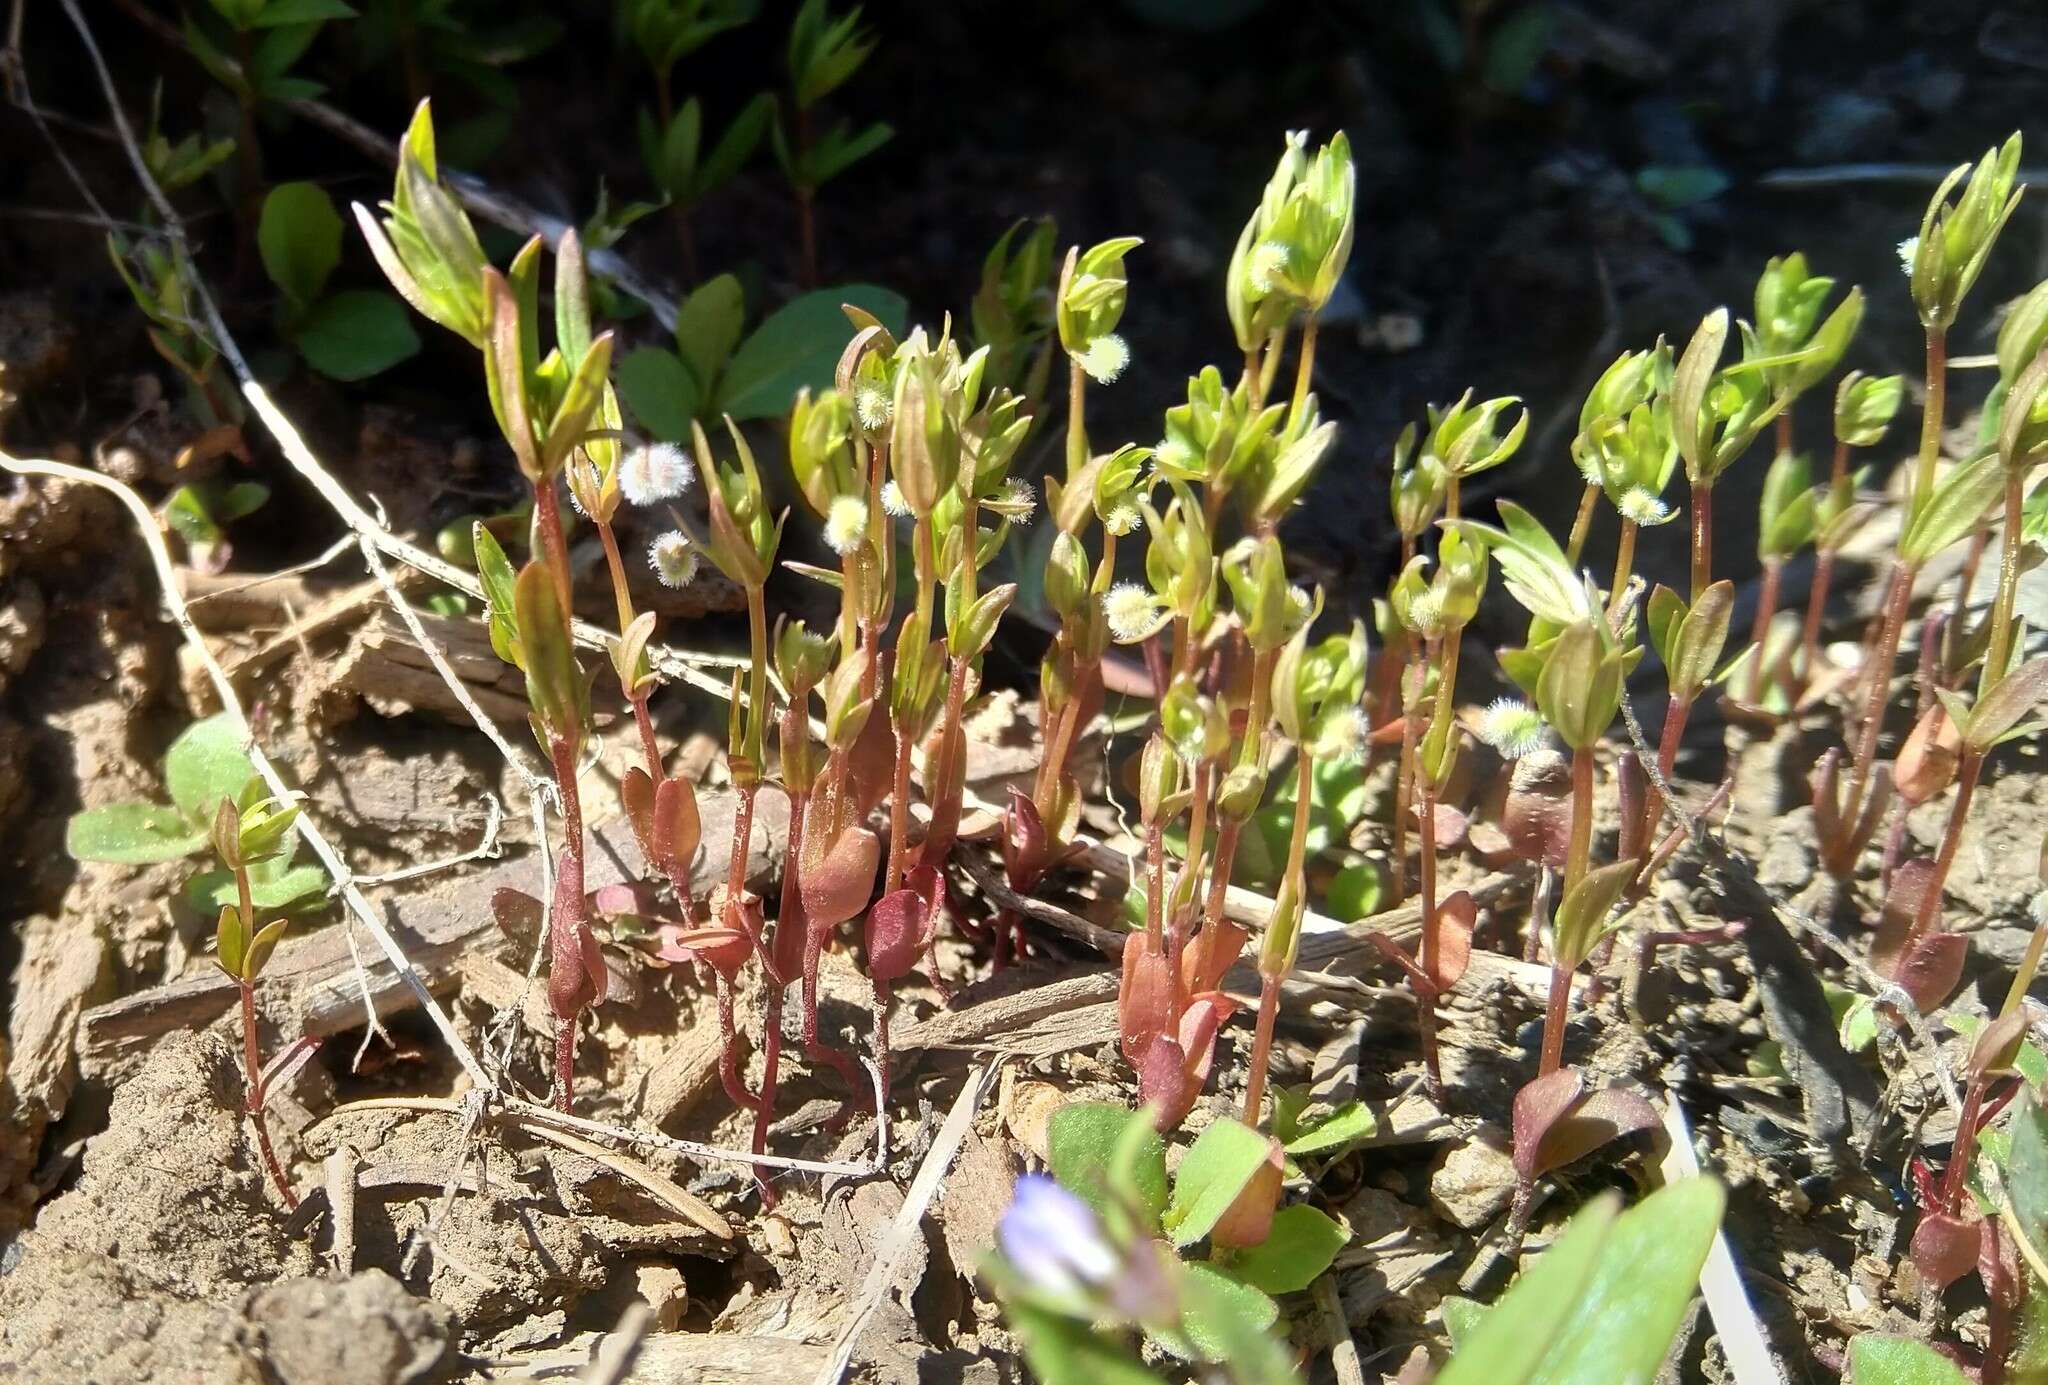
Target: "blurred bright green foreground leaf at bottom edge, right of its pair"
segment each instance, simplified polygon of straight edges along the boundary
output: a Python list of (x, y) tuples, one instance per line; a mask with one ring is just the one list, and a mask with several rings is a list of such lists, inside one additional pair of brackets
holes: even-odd
[(1718, 1182), (1688, 1178), (1622, 1213), (1528, 1383), (1653, 1379), (1686, 1321), (1724, 1205)]

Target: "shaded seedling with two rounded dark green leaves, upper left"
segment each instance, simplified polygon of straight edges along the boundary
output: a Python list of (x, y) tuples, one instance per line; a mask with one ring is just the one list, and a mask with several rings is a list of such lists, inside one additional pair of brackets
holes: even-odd
[(281, 182), (264, 197), (256, 227), (264, 272), (279, 287), (279, 328), (328, 379), (369, 379), (420, 350), (420, 334), (395, 293), (342, 289), (328, 281), (342, 260), (342, 217), (313, 182)]

